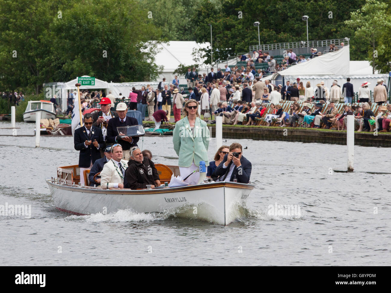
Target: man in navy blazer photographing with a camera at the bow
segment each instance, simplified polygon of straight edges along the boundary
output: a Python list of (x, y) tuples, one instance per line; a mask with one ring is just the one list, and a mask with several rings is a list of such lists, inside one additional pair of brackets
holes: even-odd
[[(238, 153), (239, 156), (233, 156), (233, 153)], [(224, 156), (224, 160), (217, 166), (212, 177), (219, 176), (216, 181), (233, 182), (236, 179), (238, 183), (249, 183), (251, 169), (251, 162), (243, 156), (242, 145), (234, 142), (230, 145), (230, 152)]]

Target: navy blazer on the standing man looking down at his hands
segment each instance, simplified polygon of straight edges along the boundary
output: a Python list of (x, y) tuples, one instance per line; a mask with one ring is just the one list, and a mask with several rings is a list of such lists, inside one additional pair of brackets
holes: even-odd
[[(74, 144), (75, 150), (80, 151), (79, 153), (79, 167), (81, 168), (89, 168), (92, 164), (95, 163), (96, 160), (100, 159), (100, 151), (99, 149), (103, 149), (105, 147), (102, 129), (99, 127), (92, 126), (92, 136), (91, 136), (91, 144), (89, 146), (84, 146), (84, 142), (88, 140), (88, 135), (85, 126), (75, 129), (74, 133)], [(96, 140), (99, 143), (99, 149), (95, 147), (92, 142)], [(82, 175), (83, 176), (83, 175)]]

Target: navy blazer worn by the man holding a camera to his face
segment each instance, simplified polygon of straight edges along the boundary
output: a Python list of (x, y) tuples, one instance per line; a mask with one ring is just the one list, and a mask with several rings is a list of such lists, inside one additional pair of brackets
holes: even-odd
[[(213, 176), (226, 176), (225, 174), (228, 174), (230, 171), (231, 164), (233, 164), (233, 160), (231, 160), (230, 164), (228, 164), (228, 167), (223, 168), (223, 164), (227, 162), (228, 154), (224, 156), (224, 160), (220, 163), (220, 165), (217, 166), (216, 170), (213, 172)], [(233, 182), (233, 179), (237, 179), (239, 183), (248, 183), (250, 181), (251, 176), (251, 169), (252, 165), (249, 160), (247, 160), (243, 155), (240, 158), (240, 163), (242, 164), (239, 168), (236, 166), (233, 167), (231, 178), (224, 178), (224, 181), (230, 181)], [(239, 170), (241, 172), (239, 172)], [(240, 174), (239, 174), (240, 173)]]

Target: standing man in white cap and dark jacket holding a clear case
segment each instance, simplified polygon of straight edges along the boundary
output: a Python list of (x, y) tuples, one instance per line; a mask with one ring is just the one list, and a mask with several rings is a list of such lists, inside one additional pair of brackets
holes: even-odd
[(118, 135), (117, 127), (138, 125), (136, 118), (126, 116), (127, 106), (125, 103), (117, 105), (118, 117), (110, 119), (107, 126), (106, 141), (110, 143), (118, 143), (122, 146), (124, 160), (129, 160), (131, 147), (137, 146), (139, 137), (123, 137)]

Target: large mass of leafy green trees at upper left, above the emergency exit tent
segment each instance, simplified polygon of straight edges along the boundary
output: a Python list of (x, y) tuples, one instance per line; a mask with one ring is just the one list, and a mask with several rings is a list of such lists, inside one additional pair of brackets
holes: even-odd
[[(91, 75), (149, 81), (160, 30), (137, 0), (0, 0), (0, 88), (40, 92), (42, 84)], [(106, 52), (106, 56), (104, 56)]]

